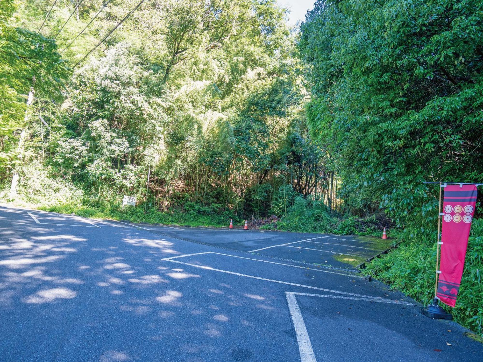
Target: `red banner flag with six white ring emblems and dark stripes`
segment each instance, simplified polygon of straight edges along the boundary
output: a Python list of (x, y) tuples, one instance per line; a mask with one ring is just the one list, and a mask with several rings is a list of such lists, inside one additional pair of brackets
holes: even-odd
[(444, 189), (441, 273), (436, 296), (448, 306), (456, 304), (476, 195), (476, 185), (447, 185)]

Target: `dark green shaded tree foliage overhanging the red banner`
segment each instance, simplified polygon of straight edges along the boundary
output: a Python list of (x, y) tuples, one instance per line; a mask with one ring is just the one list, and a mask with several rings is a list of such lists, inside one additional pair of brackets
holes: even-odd
[(435, 214), (422, 181), (482, 181), (481, 6), (315, 3), (300, 36), (308, 121), (352, 208), (381, 207), (399, 226), (421, 225)]

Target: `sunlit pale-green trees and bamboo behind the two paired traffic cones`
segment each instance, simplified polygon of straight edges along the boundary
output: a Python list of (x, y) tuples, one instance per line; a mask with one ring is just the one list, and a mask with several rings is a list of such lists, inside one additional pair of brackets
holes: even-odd
[[(40, 28), (45, 17), (32, 9), (46, 15), (48, 4), (25, 0), (19, 16), (6, 19)], [(144, 210), (186, 211), (195, 202), (258, 217), (290, 207), (287, 187), (336, 198), (337, 180), (305, 123), (296, 37), (273, 0), (144, 1), (80, 63), (135, 2), (77, 5), (57, 4), (42, 27), (63, 49), (71, 77), (62, 102), (52, 103), (55, 90), (36, 94), (29, 111), (24, 199), (36, 203), (29, 172), (40, 172), (27, 165), (48, 166), (50, 176), (75, 185), (72, 204), (104, 209), (134, 195)], [(12, 170), (2, 171), (6, 186)]]

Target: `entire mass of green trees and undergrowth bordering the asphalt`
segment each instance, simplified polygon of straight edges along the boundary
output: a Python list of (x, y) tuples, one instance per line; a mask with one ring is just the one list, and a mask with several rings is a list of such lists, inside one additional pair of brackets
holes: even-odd
[[(274, 0), (145, 0), (105, 40), (138, 1), (52, 4), (0, 0), (0, 201), (387, 227), (398, 248), (369, 271), (427, 303), (438, 187), (422, 182), (483, 181), (483, 0), (319, 0), (296, 28)], [(452, 311), (483, 335), (481, 200)]]

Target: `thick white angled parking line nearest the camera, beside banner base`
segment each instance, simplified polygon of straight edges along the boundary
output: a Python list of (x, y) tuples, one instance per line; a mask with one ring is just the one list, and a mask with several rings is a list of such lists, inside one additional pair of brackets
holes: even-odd
[(313, 297), (322, 298), (338, 298), (338, 299), (350, 299), (350, 300), (361, 300), (368, 302), (380, 302), (388, 304), (400, 304), (397, 301), (392, 300), (374, 300), (371, 298), (354, 298), (346, 297), (342, 295), (326, 295), (326, 294), (312, 294), (312, 293), (300, 293), (300, 292), (285, 292), (285, 297), (287, 298), (288, 310), (290, 316), (292, 317), (292, 323), (294, 324), (295, 334), (297, 336), (298, 352), (300, 354), (301, 362), (316, 362), (315, 354), (313, 353), (312, 343), (309, 338), (309, 333), (307, 332), (307, 327), (302, 317), (302, 312), (297, 303), (296, 295), (305, 295)]

